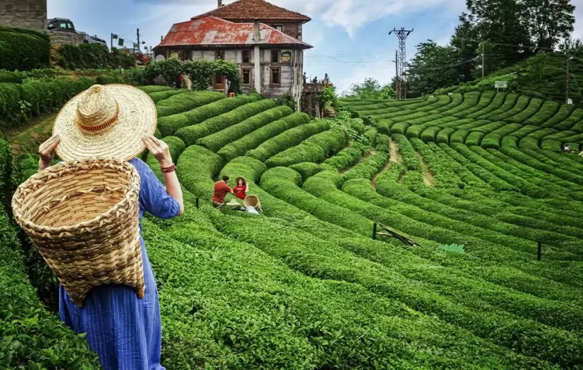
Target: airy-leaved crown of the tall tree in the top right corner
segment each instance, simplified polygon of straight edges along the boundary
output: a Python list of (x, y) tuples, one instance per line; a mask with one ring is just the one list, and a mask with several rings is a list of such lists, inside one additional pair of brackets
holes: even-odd
[(574, 5), (570, 0), (519, 0), (523, 22), (538, 48), (552, 49), (573, 31)]

